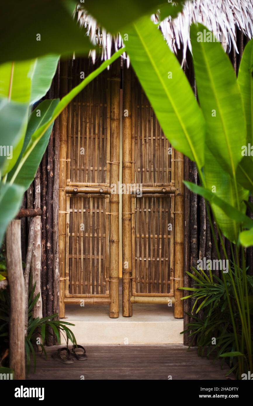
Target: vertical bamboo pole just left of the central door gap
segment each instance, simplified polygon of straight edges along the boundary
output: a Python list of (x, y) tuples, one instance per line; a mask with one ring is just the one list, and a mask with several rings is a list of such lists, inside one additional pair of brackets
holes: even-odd
[[(119, 181), (120, 60), (111, 67), (110, 184)], [(119, 317), (119, 194), (110, 194), (110, 317)]]

